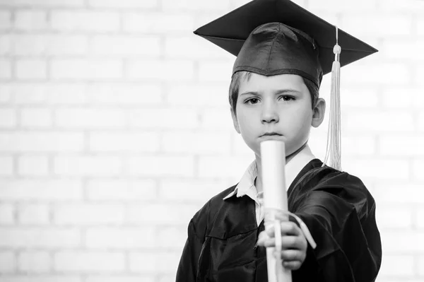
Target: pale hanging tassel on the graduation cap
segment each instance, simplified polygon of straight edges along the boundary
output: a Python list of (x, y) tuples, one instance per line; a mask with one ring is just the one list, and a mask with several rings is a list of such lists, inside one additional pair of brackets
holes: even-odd
[[(327, 134), (324, 164), (341, 170), (341, 116), (340, 116), (340, 53), (338, 28), (336, 27), (336, 45), (333, 48), (334, 61), (331, 69), (331, 95), (329, 131)], [(329, 162), (329, 163), (328, 163)]]

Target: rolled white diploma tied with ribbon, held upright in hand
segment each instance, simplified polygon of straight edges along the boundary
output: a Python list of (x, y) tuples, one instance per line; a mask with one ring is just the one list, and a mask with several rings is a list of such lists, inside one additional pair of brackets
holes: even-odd
[[(285, 146), (283, 141), (267, 140), (261, 142), (262, 187), (264, 189), (264, 208), (288, 211), (287, 192), (285, 191)], [(271, 218), (274, 218), (271, 215)], [(288, 218), (287, 218), (288, 220)], [(269, 282), (291, 282), (291, 271), (285, 269), (281, 257), (276, 259), (273, 252), (281, 250), (280, 221), (274, 221), (276, 247), (266, 248), (266, 261)], [(265, 229), (270, 228), (269, 224)]]

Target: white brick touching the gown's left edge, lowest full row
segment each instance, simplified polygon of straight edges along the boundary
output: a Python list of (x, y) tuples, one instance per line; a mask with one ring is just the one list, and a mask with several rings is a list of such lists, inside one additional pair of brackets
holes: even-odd
[(136, 273), (175, 274), (181, 254), (151, 252), (129, 254), (129, 269)]

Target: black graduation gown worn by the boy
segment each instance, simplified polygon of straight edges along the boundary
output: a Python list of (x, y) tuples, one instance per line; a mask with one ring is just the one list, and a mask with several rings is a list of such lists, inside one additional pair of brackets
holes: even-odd
[[(209, 200), (192, 218), (177, 282), (266, 282), (266, 249), (255, 247), (257, 225), (248, 196), (223, 200), (235, 186)], [(307, 248), (295, 281), (375, 281), (382, 259), (375, 201), (358, 177), (305, 165), (288, 189), (288, 209), (309, 228), (317, 247)]]

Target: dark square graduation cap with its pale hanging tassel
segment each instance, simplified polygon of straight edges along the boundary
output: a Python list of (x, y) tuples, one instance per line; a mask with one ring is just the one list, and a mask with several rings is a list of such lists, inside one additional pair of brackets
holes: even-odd
[[(377, 52), (290, 0), (254, 0), (194, 31), (235, 55), (232, 69), (272, 76), (298, 74), (319, 88), (332, 72), (327, 153), (341, 170), (340, 67)], [(343, 55), (341, 54), (343, 49)]]

